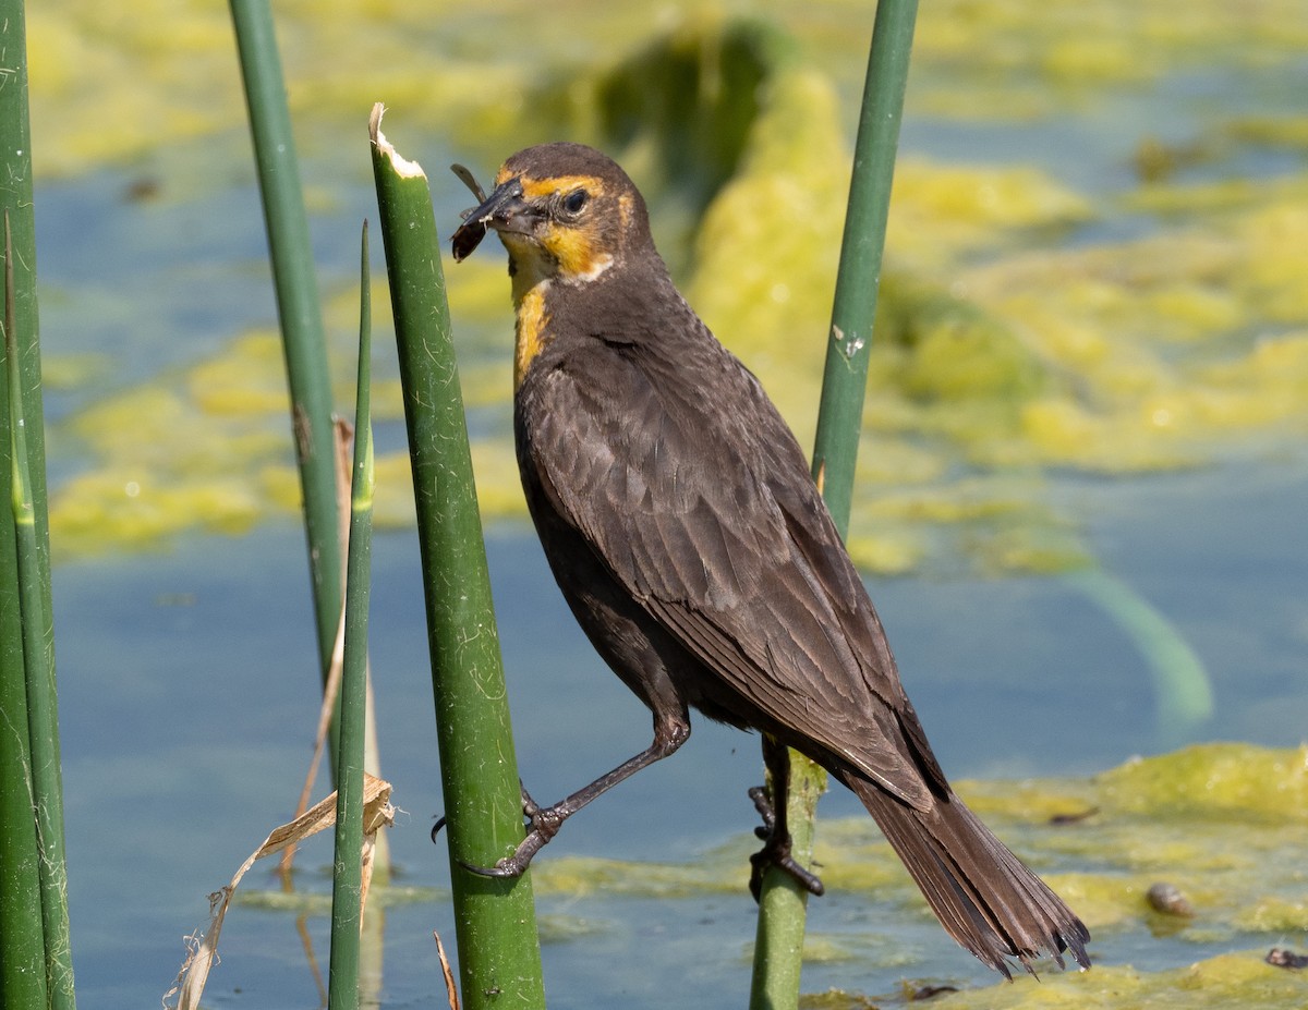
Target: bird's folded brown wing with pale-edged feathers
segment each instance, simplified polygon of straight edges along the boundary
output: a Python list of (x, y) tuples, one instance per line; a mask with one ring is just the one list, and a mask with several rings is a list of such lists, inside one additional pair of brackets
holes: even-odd
[(712, 674), (925, 809), (943, 773), (803, 453), (712, 338), (683, 351), (589, 341), (540, 369), (519, 391), (526, 464)]

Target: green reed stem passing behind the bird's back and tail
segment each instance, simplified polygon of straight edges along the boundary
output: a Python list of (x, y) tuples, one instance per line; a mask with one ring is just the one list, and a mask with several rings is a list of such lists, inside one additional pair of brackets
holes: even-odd
[[(880, 0), (876, 4), (854, 143), (849, 209), (814, 446), (814, 479), (841, 536), (849, 531), (867, 358), (916, 18), (917, 0)], [(824, 786), (825, 773), (807, 758), (791, 752), (786, 816), (794, 854), (803, 863), (811, 862), (814, 811)], [(807, 892), (787, 874), (773, 869), (764, 878), (751, 1010), (798, 1006), (806, 900)]]

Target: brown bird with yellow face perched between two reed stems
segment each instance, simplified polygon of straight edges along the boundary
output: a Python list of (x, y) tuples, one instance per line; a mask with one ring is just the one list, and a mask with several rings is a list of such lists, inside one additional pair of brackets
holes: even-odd
[[(527, 801), (527, 839), (487, 871), (522, 873), (566, 816), (680, 747), (696, 708), (852, 789), (990, 967), (1041, 951), (1088, 967), (1086, 926), (946, 781), (803, 451), (674, 287), (627, 174), (578, 144), (528, 148), (464, 216), (455, 258), (488, 228), (509, 250), (527, 505), (581, 627), (654, 713), (654, 742), (553, 807)], [(772, 854), (820, 890), (787, 837)]]

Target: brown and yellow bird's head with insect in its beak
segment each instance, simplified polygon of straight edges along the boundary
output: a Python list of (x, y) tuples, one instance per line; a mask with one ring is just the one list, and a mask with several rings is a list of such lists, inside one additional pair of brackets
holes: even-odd
[(587, 284), (653, 250), (634, 183), (612, 158), (582, 144), (542, 144), (510, 157), (494, 191), (454, 233), (454, 258), (471, 255), (487, 229), (509, 250), (515, 287)]

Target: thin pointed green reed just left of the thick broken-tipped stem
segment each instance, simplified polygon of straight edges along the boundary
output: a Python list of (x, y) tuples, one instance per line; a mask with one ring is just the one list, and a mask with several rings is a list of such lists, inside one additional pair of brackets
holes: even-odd
[(368, 725), (368, 598), (373, 549), (371, 281), (364, 224), (358, 319), (358, 390), (354, 399), (354, 466), (349, 493), (349, 570), (345, 580), (345, 658), (340, 683), (340, 750), (336, 756), (336, 860), (332, 873), (330, 1010), (358, 1007), (362, 916), (364, 735)]

